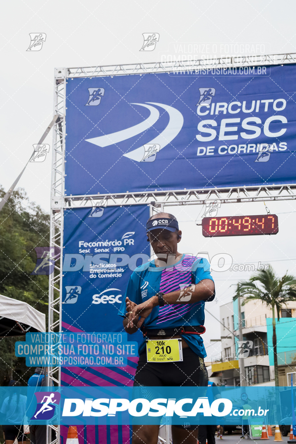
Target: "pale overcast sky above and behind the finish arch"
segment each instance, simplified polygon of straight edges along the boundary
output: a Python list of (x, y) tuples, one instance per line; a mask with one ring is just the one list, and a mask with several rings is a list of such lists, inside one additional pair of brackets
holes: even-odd
[[(210, 57), (241, 52), (296, 52), (296, 3), (293, 0), (63, 0), (13, 1), (3, 4), (1, 18), (1, 176), (8, 190), (31, 156), (52, 119), (54, 67), (85, 67), (119, 63), (156, 62), (171, 55)], [(29, 33), (46, 33), (41, 51), (28, 52)], [(160, 35), (153, 52), (140, 52), (142, 33)], [(240, 46), (238, 46), (240, 44)], [(195, 51), (194, 53), (192, 51)], [(45, 142), (51, 143), (51, 133)], [(50, 151), (51, 151), (50, 148)], [(50, 152), (51, 154), (51, 152)], [(43, 163), (29, 163), (19, 186), (30, 200), (49, 211), (51, 155)], [(170, 208), (184, 231), (182, 251), (208, 251), (210, 257), (227, 252), (234, 263), (270, 261), (279, 274), (295, 270), (294, 201), (268, 204), (279, 215), (276, 236), (203, 238), (194, 223), (197, 207)], [(218, 215), (264, 214), (263, 203), (222, 205)], [(214, 273), (216, 301), (211, 311), (230, 301), (229, 286), (248, 272)], [(233, 287), (232, 287), (233, 288)], [(205, 335), (209, 356), (219, 353), (219, 326), (207, 315)]]

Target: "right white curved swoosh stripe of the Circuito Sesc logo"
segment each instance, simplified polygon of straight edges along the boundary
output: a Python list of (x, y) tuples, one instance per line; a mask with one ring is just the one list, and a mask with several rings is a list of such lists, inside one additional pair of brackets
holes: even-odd
[[(169, 115), (169, 122), (166, 128), (162, 131), (162, 133), (159, 134), (157, 137), (155, 137), (155, 139), (150, 140), (150, 142), (146, 142), (147, 144), (157, 143), (158, 145), (160, 145), (160, 149), (162, 149), (180, 133), (183, 127), (184, 119), (180, 111), (178, 111), (176, 108), (173, 108), (172, 106), (156, 102), (148, 102), (148, 103), (164, 108)], [(140, 146), (139, 148), (136, 148), (127, 154), (124, 154), (124, 156), (136, 160), (137, 162), (140, 162), (143, 159), (144, 155), (145, 155), (145, 148), (143, 146)]]

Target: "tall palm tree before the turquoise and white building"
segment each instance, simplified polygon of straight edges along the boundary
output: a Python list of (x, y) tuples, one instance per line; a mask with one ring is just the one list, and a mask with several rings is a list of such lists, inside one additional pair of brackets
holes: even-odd
[(274, 357), (274, 379), (275, 386), (278, 387), (278, 368), (276, 353), (276, 330), (275, 330), (275, 309), (277, 312), (277, 320), (282, 306), (286, 306), (288, 301), (296, 301), (296, 278), (291, 274), (285, 274), (282, 278), (277, 278), (271, 266), (267, 269), (260, 270), (249, 281), (241, 281), (238, 284), (236, 295), (233, 300), (243, 296), (246, 302), (260, 299), (265, 302), (272, 310), (272, 346)]

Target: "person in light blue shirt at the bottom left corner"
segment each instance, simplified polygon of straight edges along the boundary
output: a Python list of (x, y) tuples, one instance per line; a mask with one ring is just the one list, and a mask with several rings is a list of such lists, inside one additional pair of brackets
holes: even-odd
[[(19, 387), (21, 384), (18, 381), (10, 381), (9, 387)], [(5, 433), (5, 444), (14, 444), (15, 439), (18, 442), (25, 442), (24, 426), (16, 425), (24, 421), (26, 413), (27, 397), (21, 395), (19, 392), (14, 393), (10, 391), (10, 395), (3, 401), (0, 412), (6, 415), (6, 425), (3, 425)]]

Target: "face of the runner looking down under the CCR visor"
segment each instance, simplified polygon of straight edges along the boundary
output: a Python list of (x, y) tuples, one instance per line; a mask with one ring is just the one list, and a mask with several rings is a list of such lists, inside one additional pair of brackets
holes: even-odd
[(147, 233), (147, 236), (155, 254), (176, 254), (177, 244), (180, 242), (177, 234), (181, 235), (181, 231), (156, 229)]

